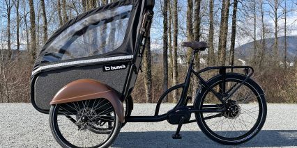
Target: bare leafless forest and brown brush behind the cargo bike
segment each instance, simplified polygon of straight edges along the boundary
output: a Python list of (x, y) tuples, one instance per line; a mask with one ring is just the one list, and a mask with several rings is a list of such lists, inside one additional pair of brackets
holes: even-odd
[[(0, 103), (30, 102), (32, 67), (50, 36), (73, 17), (114, 1), (1, 0)], [(297, 103), (296, 0), (155, 0), (154, 12), (132, 93), (136, 102), (155, 103), (183, 83), (192, 49), (181, 44), (204, 41), (208, 49), (195, 58), (195, 70), (249, 65), (268, 102)], [(199, 82), (192, 82), (188, 95), (195, 98)], [(177, 96), (173, 92), (167, 102)]]

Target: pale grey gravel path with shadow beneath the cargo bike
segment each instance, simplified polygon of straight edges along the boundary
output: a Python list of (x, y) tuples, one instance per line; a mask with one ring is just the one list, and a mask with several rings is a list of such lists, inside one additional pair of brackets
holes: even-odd
[[(164, 104), (162, 113), (174, 104)], [(153, 115), (155, 104), (136, 104), (133, 115)], [(48, 115), (31, 104), (0, 104), (0, 147), (59, 147), (50, 132)], [(112, 147), (226, 147), (209, 140), (197, 123), (182, 127), (182, 140), (171, 135), (176, 125), (167, 122), (128, 123)], [(297, 147), (297, 105), (268, 104), (264, 129), (237, 147)]]

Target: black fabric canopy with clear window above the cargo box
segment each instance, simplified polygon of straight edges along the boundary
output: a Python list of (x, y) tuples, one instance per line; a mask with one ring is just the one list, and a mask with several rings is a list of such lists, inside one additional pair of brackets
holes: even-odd
[(153, 0), (109, 3), (71, 19), (40, 51), (34, 69), (75, 60), (133, 55), (139, 24)]

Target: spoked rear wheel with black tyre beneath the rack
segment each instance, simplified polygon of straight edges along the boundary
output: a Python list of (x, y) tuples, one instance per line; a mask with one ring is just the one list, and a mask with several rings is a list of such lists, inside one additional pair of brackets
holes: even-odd
[[(211, 79), (208, 85), (217, 94), (227, 96), (245, 79), (246, 76), (241, 74), (226, 74), (224, 87), (222, 76)], [(210, 90), (201, 88), (195, 108), (224, 110), (222, 113), (195, 113), (201, 131), (224, 145), (238, 145), (252, 139), (264, 126), (267, 113), (264, 91), (252, 79), (243, 83), (226, 104), (222, 104)]]

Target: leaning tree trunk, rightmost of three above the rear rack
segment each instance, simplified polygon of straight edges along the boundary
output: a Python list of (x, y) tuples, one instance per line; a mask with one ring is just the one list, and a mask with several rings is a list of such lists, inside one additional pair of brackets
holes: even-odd
[(234, 66), (234, 49), (236, 39), (236, 16), (238, 0), (234, 0), (233, 14), (232, 14), (232, 28), (231, 28), (231, 45), (230, 45), (230, 62), (229, 65)]

